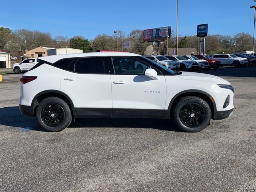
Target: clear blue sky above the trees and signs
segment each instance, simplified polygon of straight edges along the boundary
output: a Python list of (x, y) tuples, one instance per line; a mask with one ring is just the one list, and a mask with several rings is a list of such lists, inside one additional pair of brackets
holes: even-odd
[[(24, 2), (22, 4), (22, 2)], [(209, 24), (209, 34), (253, 34), (252, 0), (179, 0), (179, 35), (196, 34), (197, 24)], [(176, 31), (176, 0), (4, 0), (0, 26), (26, 28), (57, 35), (126, 35), (134, 29), (171, 26)]]

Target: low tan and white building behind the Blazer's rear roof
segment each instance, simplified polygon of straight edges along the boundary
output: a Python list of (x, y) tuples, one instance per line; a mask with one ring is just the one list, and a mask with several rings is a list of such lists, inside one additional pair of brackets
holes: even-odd
[(82, 53), (82, 49), (73, 48), (50, 48), (50, 47), (37, 47), (26, 52), (26, 56), (30, 58), (37, 58), (42, 56), (70, 54), (70, 53)]

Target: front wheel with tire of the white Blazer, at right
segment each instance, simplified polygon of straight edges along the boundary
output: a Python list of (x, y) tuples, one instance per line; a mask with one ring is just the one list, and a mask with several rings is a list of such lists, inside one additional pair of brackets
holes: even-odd
[(181, 130), (199, 132), (209, 125), (211, 116), (211, 108), (205, 100), (187, 96), (176, 104), (172, 118)]

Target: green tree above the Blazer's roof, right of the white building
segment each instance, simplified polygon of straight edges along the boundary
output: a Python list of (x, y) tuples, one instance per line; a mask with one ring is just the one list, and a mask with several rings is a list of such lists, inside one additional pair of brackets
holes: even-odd
[(92, 46), (88, 39), (82, 36), (76, 36), (70, 39), (70, 48), (82, 49), (83, 52), (91, 52)]

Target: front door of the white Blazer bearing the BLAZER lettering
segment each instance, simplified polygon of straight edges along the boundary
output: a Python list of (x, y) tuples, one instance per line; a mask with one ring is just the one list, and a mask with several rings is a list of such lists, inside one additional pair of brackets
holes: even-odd
[[(122, 69), (122, 59), (136, 62), (136, 69)], [(159, 79), (153, 80), (144, 75), (148, 63), (135, 57), (112, 57), (110, 67), (113, 68), (112, 117), (155, 117), (162, 118), (166, 100), (165, 77), (158, 71)]]

